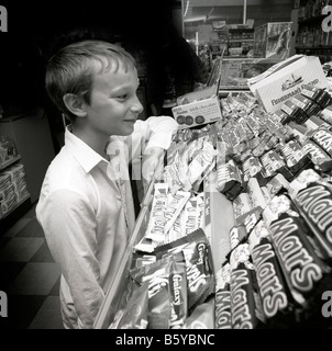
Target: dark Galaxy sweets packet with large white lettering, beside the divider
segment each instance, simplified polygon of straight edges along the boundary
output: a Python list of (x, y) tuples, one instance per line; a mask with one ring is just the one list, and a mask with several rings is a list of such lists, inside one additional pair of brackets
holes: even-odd
[(176, 241), (157, 247), (154, 251), (157, 258), (176, 252), (182, 252), (185, 256), (190, 312), (214, 293), (212, 256), (204, 231), (199, 228)]

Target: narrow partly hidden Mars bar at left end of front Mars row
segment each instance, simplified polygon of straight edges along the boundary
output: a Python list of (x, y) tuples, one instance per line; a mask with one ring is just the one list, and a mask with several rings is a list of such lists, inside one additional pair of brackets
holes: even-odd
[(215, 329), (231, 329), (232, 316), (231, 316), (231, 267), (226, 262), (215, 274)]

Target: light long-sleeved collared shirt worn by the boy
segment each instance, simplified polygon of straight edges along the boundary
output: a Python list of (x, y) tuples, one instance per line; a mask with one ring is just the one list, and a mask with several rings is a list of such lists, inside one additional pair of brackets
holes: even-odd
[(134, 228), (128, 161), (151, 147), (167, 149), (177, 123), (137, 121), (129, 137), (111, 137), (110, 161), (65, 131), (36, 206), (49, 251), (59, 264), (65, 328), (91, 328)]

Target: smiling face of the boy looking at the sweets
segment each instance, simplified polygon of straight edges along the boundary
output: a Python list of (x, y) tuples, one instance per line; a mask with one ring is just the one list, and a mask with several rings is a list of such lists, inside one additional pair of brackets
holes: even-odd
[(100, 71), (99, 63), (96, 68), (90, 104), (86, 104), (89, 127), (104, 137), (132, 134), (143, 111), (136, 95), (140, 84), (136, 69), (125, 72), (120, 66), (115, 72), (113, 69)]

